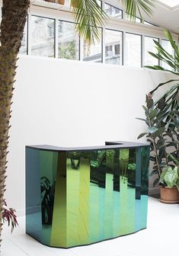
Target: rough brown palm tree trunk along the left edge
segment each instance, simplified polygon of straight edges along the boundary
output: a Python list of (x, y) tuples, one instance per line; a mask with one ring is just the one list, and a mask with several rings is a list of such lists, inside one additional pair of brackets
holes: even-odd
[(30, 0), (3, 0), (0, 46), (0, 238), (8, 154), (8, 130), (17, 56), (24, 33)]

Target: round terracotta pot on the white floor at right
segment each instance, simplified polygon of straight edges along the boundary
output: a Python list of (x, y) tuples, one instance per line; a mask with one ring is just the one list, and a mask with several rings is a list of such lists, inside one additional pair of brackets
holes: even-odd
[(179, 192), (177, 187), (161, 187), (160, 186), (160, 202), (161, 203), (179, 203)]

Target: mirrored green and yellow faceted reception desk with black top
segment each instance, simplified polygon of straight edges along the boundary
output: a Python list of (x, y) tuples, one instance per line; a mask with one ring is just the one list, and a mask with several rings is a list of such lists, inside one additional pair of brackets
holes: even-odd
[(26, 146), (26, 232), (70, 248), (146, 228), (149, 145)]

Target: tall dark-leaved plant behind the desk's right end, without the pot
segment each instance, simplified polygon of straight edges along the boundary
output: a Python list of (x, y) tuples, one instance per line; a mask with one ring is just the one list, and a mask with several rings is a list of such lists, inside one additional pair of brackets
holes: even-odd
[[(148, 126), (146, 133), (141, 133), (138, 139), (146, 136), (147, 141), (151, 145), (150, 160), (153, 162), (152, 173), (158, 174), (158, 178), (154, 181), (154, 186), (158, 184), (162, 170), (166, 167), (173, 167), (174, 158), (178, 158), (179, 142), (178, 142), (178, 104), (177, 108), (172, 108), (172, 104), (168, 104), (166, 98), (158, 101), (157, 104), (152, 99), (152, 94), (146, 95), (146, 105), (142, 106), (145, 110), (145, 119), (142, 120)], [(168, 122), (168, 118), (172, 121)], [(171, 152), (171, 153), (170, 153)]]

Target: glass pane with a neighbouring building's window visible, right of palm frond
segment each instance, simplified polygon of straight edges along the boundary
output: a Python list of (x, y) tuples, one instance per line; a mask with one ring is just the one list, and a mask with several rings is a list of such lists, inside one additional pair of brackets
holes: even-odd
[(105, 30), (105, 62), (122, 65), (123, 33), (115, 30)]

